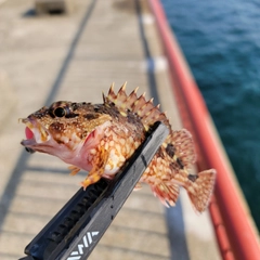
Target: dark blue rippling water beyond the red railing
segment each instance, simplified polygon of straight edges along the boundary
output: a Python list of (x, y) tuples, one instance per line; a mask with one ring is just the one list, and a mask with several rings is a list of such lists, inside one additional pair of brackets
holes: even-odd
[(260, 230), (260, 2), (161, 2)]

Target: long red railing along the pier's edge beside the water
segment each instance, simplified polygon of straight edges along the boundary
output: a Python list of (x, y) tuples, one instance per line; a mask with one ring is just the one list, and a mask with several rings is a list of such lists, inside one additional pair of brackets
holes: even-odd
[[(197, 143), (198, 168), (218, 172), (209, 210), (224, 260), (259, 260), (259, 237), (204, 99), (168, 25), (159, 0), (150, 0), (168, 58), (180, 114)], [(219, 93), (220, 94), (220, 93)]]

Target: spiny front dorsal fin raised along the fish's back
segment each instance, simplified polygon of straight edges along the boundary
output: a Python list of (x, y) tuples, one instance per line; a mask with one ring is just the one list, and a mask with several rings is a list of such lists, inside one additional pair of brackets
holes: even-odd
[(156, 121), (162, 121), (165, 125), (170, 126), (165, 113), (159, 110), (159, 105), (155, 106), (153, 104), (153, 99), (146, 101), (145, 93), (138, 96), (138, 88), (127, 95), (126, 86), (127, 82), (122, 84), (116, 94), (113, 83), (109, 88), (107, 96), (103, 94), (104, 104), (115, 104), (120, 112), (127, 113), (130, 110), (136, 114), (141, 118), (145, 129), (148, 129), (150, 126), (154, 125)]

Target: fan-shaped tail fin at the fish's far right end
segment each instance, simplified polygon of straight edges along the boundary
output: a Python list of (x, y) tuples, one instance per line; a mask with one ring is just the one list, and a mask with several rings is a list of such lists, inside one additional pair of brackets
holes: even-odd
[(203, 212), (209, 204), (216, 180), (216, 170), (205, 170), (198, 174), (188, 174), (184, 185), (196, 211)]

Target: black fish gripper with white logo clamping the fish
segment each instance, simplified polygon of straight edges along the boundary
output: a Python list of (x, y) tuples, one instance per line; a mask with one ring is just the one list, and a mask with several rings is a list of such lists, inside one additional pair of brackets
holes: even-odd
[(112, 180), (80, 188), (25, 248), (21, 260), (84, 260), (110, 225), (123, 203), (169, 134), (156, 122), (146, 140)]

